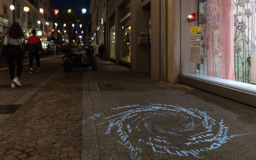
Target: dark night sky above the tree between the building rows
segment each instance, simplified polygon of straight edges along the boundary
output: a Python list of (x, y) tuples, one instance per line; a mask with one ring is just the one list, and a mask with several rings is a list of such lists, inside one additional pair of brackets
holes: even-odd
[[(59, 12), (62, 12), (62, 10), (69, 10), (72, 9), (76, 12), (77, 15), (80, 14), (81, 9), (85, 8), (86, 13), (83, 14), (82, 19), (84, 21), (84, 24), (82, 24), (82, 28), (78, 27), (78, 33), (79, 35), (82, 35), (85, 37), (86, 32), (86, 25), (88, 24), (89, 20), (91, 19), (91, 14), (89, 13), (90, 9), (90, 0), (54, 0), (56, 9), (59, 10)], [(83, 34), (81, 34), (81, 31), (84, 31)], [(73, 29), (73, 36), (76, 36), (76, 26)]]

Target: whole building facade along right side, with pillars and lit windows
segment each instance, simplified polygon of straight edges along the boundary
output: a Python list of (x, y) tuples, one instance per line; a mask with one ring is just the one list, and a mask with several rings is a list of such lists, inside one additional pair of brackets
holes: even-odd
[(91, 0), (91, 32), (109, 61), (256, 106), (256, 3), (247, 2)]

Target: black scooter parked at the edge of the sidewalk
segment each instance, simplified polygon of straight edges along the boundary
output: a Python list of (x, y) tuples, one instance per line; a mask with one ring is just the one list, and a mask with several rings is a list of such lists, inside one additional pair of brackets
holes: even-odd
[(65, 57), (63, 62), (63, 70), (66, 72), (71, 72), (73, 68), (79, 71), (79, 69), (90, 68), (97, 70), (98, 64), (96, 58), (93, 56), (93, 47), (85, 47), (83, 52), (70, 52), (68, 46), (60, 47), (60, 51), (69, 54)]

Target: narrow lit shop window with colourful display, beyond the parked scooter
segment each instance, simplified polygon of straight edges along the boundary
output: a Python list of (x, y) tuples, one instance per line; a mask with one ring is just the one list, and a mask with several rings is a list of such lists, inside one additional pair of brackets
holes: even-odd
[(120, 59), (131, 62), (131, 20), (121, 23), (121, 36)]

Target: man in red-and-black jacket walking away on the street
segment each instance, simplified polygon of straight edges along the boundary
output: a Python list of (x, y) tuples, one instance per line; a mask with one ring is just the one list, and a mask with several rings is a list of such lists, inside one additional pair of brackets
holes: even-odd
[(33, 29), (31, 31), (32, 36), (29, 37), (27, 41), (27, 51), (29, 53), (29, 67), (30, 72), (33, 73), (33, 60), (35, 57), (36, 65), (38, 67), (38, 72), (41, 72), (43, 70), (42, 67), (40, 67), (40, 54), (42, 49), (42, 42), (38, 36), (36, 36), (36, 31)]

